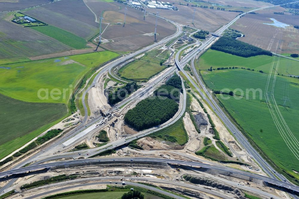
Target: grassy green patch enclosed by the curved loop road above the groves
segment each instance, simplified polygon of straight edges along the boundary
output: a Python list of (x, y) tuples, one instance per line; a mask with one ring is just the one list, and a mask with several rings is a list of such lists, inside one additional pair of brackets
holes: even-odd
[(125, 79), (147, 81), (167, 67), (164, 65), (161, 66), (160, 63), (164, 63), (168, 59), (169, 54), (169, 50), (149, 51), (140, 59), (134, 60), (122, 67), (118, 72)]

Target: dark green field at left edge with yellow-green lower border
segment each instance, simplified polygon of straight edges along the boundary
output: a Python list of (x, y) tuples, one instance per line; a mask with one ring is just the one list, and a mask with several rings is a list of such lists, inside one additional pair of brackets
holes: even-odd
[(0, 113), (2, 159), (62, 119), (67, 107), (65, 104), (29, 103), (0, 94)]

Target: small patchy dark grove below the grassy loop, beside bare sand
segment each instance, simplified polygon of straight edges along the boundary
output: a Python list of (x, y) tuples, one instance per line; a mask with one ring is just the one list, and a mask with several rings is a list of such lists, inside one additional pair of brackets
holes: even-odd
[(125, 86), (109, 92), (108, 103), (116, 104), (126, 98), (126, 95), (130, 95), (138, 88), (136, 82), (127, 83)]

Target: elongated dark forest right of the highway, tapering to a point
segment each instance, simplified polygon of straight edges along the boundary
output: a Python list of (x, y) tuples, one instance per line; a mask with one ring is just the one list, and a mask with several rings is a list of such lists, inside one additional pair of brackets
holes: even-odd
[(231, 37), (225, 36), (216, 41), (211, 46), (211, 49), (237, 55), (240, 57), (252, 57), (256, 55), (272, 56), (272, 53), (270, 51), (266, 51), (245, 42), (241, 42)]

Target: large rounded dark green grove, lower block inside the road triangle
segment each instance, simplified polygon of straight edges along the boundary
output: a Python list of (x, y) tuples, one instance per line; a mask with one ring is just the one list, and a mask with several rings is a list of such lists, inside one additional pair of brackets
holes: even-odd
[(144, 130), (162, 124), (179, 110), (179, 104), (169, 98), (149, 97), (129, 110), (124, 120), (136, 130)]

